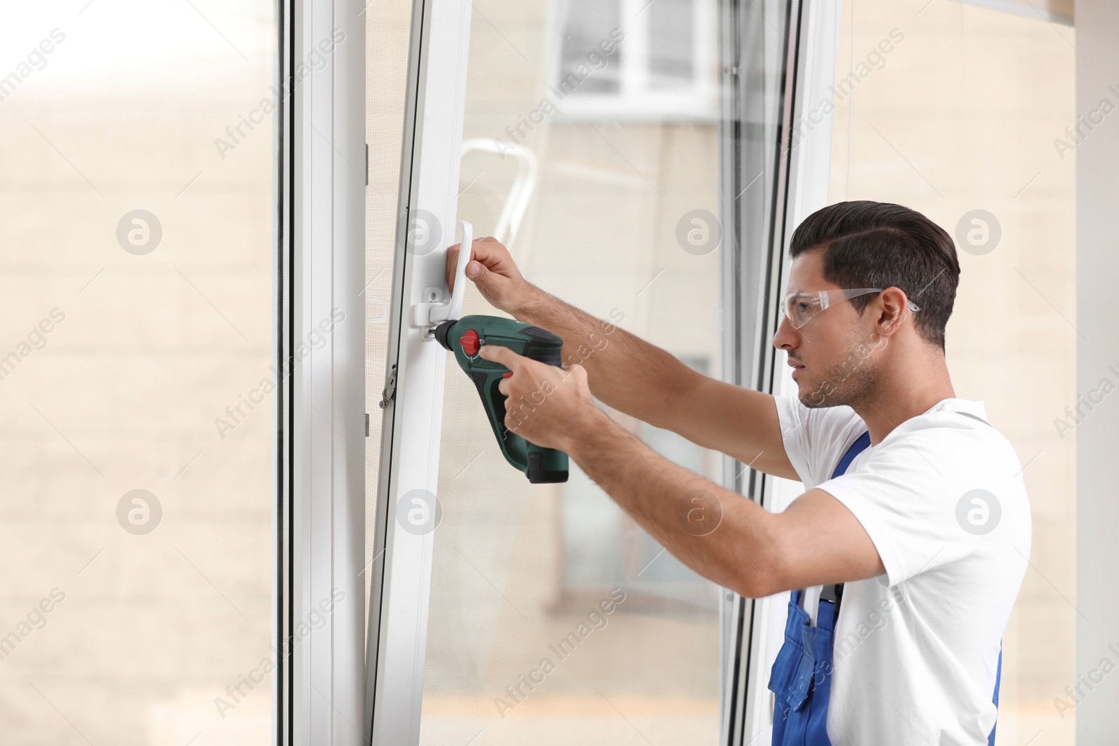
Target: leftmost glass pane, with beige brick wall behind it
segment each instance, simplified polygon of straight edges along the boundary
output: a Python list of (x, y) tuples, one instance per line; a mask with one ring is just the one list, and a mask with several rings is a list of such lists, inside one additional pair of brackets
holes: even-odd
[(0, 25), (4, 744), (267, 744), (264, 0)]

